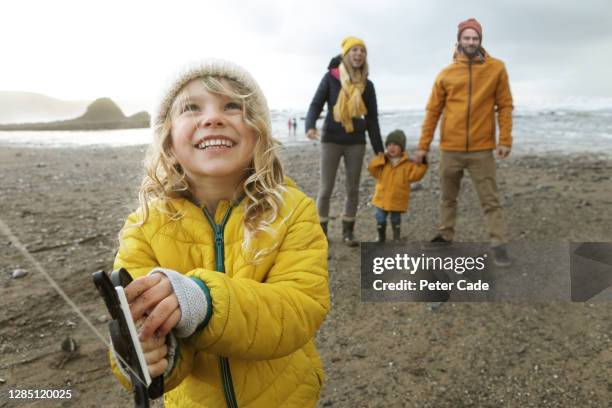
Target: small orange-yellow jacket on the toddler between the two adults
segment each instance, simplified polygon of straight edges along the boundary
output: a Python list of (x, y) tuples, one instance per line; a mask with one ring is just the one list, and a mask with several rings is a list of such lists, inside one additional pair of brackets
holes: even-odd
[(394, 166), (388, 158), (379, 154), (370, 160), (368, 171), (378, 180), (372, 205), (385, 211), (405, 212), (410, 200), (410, 183), (423, 178), (427, 165), (411, 162), (404, 152)]

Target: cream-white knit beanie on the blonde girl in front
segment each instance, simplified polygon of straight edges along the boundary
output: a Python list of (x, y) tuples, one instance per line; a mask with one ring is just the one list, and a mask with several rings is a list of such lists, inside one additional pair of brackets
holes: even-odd
[(252, 93), (253, 106), (258, 115), (263, 115), (265, 118), (268, 131), (270, 131), (270, 110), (268, 102), (261, 88), (251, 76), (251, 74), (241, 66), (220, 59), (205, 59), (197, 62), (191, 62), (181, 66), (174, 74), (166, 81), (166, 85), (157, 98), (157, 103), (153, 108), (151, 115), (151, 127), (160, 126), (166, 120), (170, 112), (170, 107), (174, 102), (174, 98), (179, 94), (181, 89), (191, 80), (204, 76), (216, 76), (221, 78), (233, 79), (244, 85), (249, 92)]

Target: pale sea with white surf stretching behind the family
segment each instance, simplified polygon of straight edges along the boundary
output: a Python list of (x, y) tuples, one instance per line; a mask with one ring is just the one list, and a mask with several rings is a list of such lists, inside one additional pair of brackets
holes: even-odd
[[(272, 110), (272, 131), (284, 145), (312, 143), (305, 137), (305, 111)], [(297, 130), (288, 127), (296, 118)], [(379, 112), (381, 132), (402, 129), (408, 149), (417, 144), (424, 111), (383, 110)], [(612, 109), (515, 109), (513, 151), (524, 154), (612, 154)], [(322, 120), (317, 122), (320, 128)], [(438, 138), (436, 134), (435, 138)], [(31, 148), (122, 147), (147, 145), (150, 129), (99, 131), (0, 131), (0, 146)], [(435, 144), (435, 141), (434, 141)]]

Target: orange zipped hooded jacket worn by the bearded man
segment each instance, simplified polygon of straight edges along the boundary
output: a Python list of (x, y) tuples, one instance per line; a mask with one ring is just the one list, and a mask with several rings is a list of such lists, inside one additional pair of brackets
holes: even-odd
[(419, 149), (429, 150), (440, 115), (441, 150), (494, 149), (496, 109), (499, 144), (512, 147), (512, 94), (504, 63), (486, 52), (474, 60), (456, 55), (434, 83)]

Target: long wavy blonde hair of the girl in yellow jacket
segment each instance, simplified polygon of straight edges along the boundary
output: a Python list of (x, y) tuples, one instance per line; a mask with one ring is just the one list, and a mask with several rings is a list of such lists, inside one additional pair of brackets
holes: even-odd
[[(283, 205), (284, 173), (276, 154), (280, 143), (272, 137), (267, 105), (257, 100), (253, 90), (234, 78), (219, 75), (204, 75), (197, 80), (202, 81), (208, 92), (239, 101), (243, 119), (256, 135), (253, 160), (245, 169), (242, 189), (237, 192), (238, 196), (243, 197), (241, 205), (245, 208), (243, 252), (245, 258), (256, 262), (274, 248), (256, 251), (247, 257), (254, 242), (253, 238), (261, 232), (274, 234), (271, 224), (278, 217)], [(172, 117), (184, 98), (184, 94), (179, 91), (164, 120), (153, 126), (153, 143), (147, 150), (144, 161), (145, 176), (139, 191), (142, 224), (147, 221), (149, 207), (153, 203), (157, 209), (173, 219), (180, 219), (183, 214), (174, 208), (172, 200), (180, 197), (191, 198), (185, 172), (172, 151), (171, 138)]]

